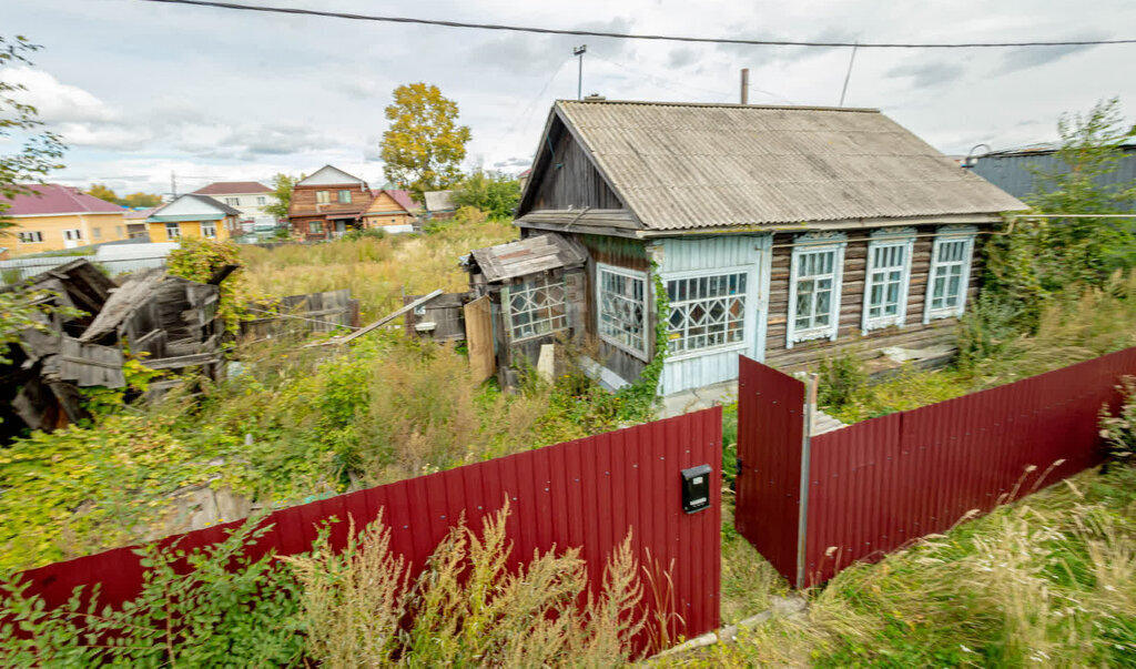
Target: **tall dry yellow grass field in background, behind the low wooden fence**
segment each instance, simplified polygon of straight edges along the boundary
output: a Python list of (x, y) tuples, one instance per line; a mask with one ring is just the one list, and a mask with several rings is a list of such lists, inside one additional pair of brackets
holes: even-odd
[(366, 323), (402, 306), (403, 294), (465, 291), (458, 259), (474, 249), (517, 239), (509, 223), (468, 220), (431, 235), (361, 237), (267, 250), (242, 246), (251, 294), (299, 295), (350, 288)]

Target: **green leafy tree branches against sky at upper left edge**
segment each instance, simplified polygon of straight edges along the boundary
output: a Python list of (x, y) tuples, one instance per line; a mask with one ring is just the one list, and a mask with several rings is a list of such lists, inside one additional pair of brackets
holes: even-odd
[[(0, 195), (6, 199), (31, 193), (33, 184), (42, 184), (49, 172), (62, 167), (59, 159), (67, 150), (59, 135), (40, 132), (43, 122), (37, 118), (35, 107), (14, 98), (24, 86), (2, 76), (6, 67), (31, 65), (25, 55), (39, 49), (24, 36), (17, 35), (15, 40), (0, 36), (0, 144), (18, 147), (12, 153), (0, 153)], [(15, 140), (9, 139), (14, 135)], [(11, 204), (0, 199), (0, 234), (10, 234), (8, 228), (16, 225), (3, 215), (9, 208)]]

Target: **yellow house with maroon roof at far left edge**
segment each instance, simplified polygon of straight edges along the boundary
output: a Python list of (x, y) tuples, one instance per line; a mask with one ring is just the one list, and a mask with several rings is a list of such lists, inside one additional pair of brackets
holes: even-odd
[(9, 200), (7, 211), (15, 220), (0, 245), (9, 256), (74, 249), (126, 239), (126, 210), (118, 204), (59, 184), (28, 184), (32, 193)]

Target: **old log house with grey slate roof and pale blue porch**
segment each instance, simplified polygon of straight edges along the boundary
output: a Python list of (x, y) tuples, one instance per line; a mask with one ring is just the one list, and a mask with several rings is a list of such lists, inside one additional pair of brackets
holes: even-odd
[(558, 101), (537, 147), (517, 225), (586, 250), (583, 302), (517, 273), (504, 321), (578, 311), (570, 334), (618, 386), (655, 357), (661, 318), (663, 394), (736, 378), (738, 354), (800, 369), (950, 345), (979, 235), (1025, 209), (874, 109)]

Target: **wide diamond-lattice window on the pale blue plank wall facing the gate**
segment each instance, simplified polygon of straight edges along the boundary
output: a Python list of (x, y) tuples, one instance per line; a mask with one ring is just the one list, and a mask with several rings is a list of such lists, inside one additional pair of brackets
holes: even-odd
[(687, 353), (745, 343), (747, 271), (667, 281), (667, 350)]

